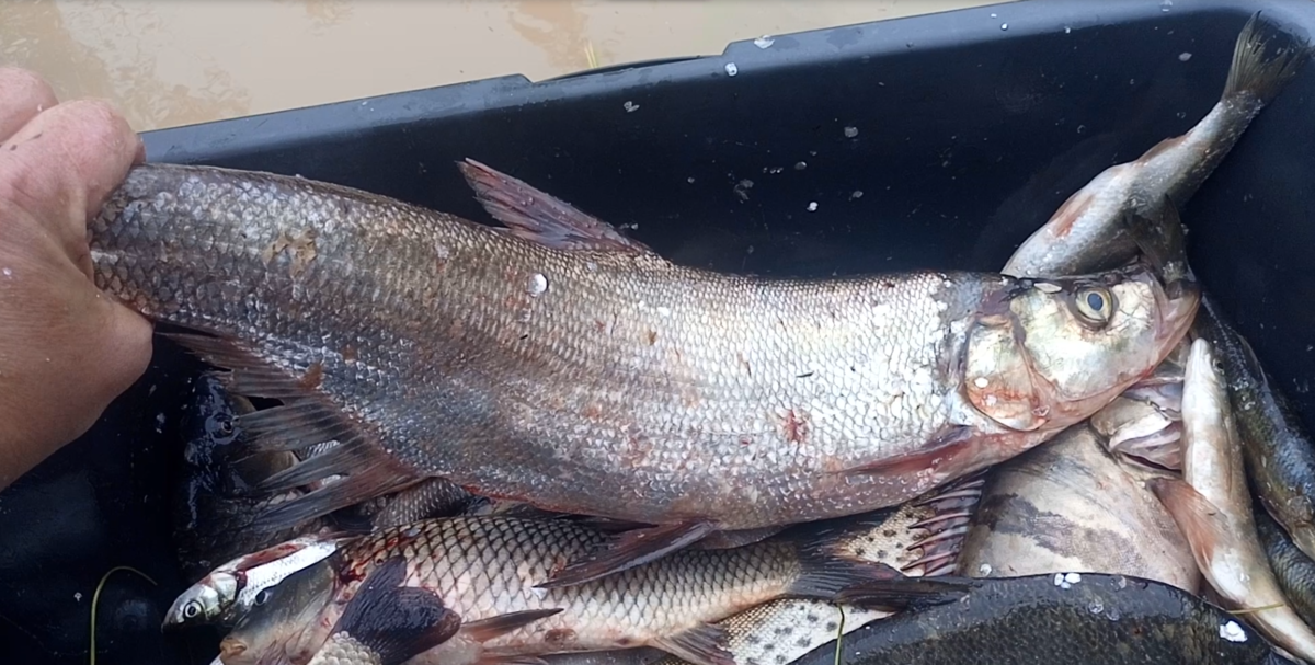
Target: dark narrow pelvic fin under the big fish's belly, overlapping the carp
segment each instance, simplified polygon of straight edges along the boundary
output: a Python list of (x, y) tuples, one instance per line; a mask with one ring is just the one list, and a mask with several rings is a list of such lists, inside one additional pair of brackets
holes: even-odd
[(713, 531), (715, 528), (710, 522), (681, 522), (626, 531), (609, 538), (583, 560), (569, 562), (537, 585), (537, 589), (573, 586), (629, 570), (689, 547)]

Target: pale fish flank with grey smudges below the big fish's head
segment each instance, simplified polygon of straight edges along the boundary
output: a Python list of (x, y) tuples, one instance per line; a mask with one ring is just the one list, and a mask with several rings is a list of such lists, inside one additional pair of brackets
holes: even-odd
[(959, 574), (1126, 574), (1195, 593), (1191, 548), (1144, 485), (1162, 472), (1106, 447), (1084, 423), (992, 469)]

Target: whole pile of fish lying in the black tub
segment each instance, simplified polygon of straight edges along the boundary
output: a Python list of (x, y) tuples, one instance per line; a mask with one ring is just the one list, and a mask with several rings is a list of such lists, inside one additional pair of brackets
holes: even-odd
[(501, 226), (134, 168), (96, 283), (213, 368), (166, 627), (216, 665), (1315, 664), (1315, 446), (1178, 217), (1308, 58), (1264, 25), (1001, 272), (697, 269), (471, 159)]

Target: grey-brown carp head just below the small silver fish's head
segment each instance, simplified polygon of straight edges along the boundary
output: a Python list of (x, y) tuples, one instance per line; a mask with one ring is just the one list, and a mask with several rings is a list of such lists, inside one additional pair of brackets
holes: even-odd
[(321, 615), (333, 605), (335, 580), (333, 565), (320, 561), (260, 590), (251, 608), (220, 641), (220, 660), (224, 665), (295, 662), (293, 652), (306, 641), (304, 633), (317, 632), (325, 623)]

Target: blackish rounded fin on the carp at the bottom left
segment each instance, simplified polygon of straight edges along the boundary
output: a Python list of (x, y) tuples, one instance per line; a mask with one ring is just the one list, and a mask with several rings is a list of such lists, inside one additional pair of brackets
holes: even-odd
[(406, 561), (394, 556), (376, 566), (343, 607), (330, 635), (347, 635), (381, 665), (401, 665), (450, 640), (462, 618), (429, 589), (401, 586)]

